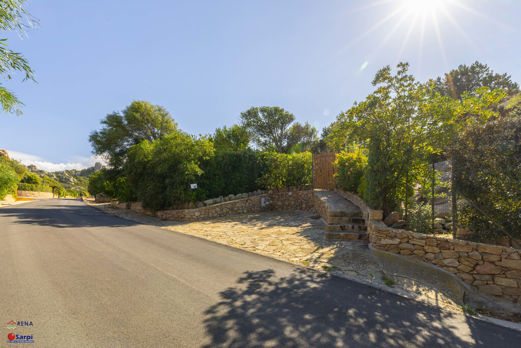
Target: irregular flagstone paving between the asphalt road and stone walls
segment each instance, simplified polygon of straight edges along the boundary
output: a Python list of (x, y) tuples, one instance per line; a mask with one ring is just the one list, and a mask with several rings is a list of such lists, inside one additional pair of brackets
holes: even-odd
[(386, 285), (382, 279), (386, 274), (367, 243), (326, 239), (326, 223), (314, 213), (273, 211), (205, 221), (176, 222), (162, 221), (131, 210), (112, 209), (108, 203), (90, 205), (123, 219), (205, 238), (370, 284), (379, 290), (461, 311), (450, 299), (424, 284), (411, 287), (409, 282), (405, 289), (400, 287), (400, 281), (395, 279), (394, 285)]

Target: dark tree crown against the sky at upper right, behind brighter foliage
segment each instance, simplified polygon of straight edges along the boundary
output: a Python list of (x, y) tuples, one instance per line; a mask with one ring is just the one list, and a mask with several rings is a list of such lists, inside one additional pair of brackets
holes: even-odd
[(474, 93), (480, 87), (489, 90), (502, 89), (507, 92), (518, 91), (519, 85), (513, 82), (510, 75), (494, 74), (487, 64), (475, 62), (467, 66), (462, 64), (451, 70), (443, 78), (436, 79), (435, 90), (441, 95), (448, 95), (454, 100), (462, 100), (465, 92)]

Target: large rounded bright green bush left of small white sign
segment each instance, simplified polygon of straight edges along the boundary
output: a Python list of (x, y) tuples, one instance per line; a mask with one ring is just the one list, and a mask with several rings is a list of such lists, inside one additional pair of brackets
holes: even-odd
[(144, 208), (161, 210), (204, 199), (191, 190), (203, 173), (199, 164), (213, 154), (212, 142), (181, 132), (130, 148), (125, 173)]

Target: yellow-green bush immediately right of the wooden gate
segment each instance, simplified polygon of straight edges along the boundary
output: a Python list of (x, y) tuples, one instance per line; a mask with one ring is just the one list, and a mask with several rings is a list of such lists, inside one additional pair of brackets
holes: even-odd
[(357, 191), (367, 166), (367, 156), (362, 150), (355, 152), (342, 151), (334, 162), (337, 167), (337, 188), (345, 191)]

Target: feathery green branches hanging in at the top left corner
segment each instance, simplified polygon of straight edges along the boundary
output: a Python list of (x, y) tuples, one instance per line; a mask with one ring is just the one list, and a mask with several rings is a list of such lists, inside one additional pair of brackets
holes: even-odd
[[(3, 0), (0, 4), (0, 30), (16, 31), (21, 36), (27, 28), (37, 27), (38, 20), (27, 12), (26, 5), (27, 1), (25, 0)], [(25, 75), (23, 81), (34, 81), (34, 71), (29, 67), (27, 59), (23, 58), (21, 53), (11, 51), (5, 43), (7, 39), (0, 39), (0, 41), (2, 41), (0, 45), (0, 74), (6, 80), (10, 80), (12, 74), (21, 71)], [(19, 106), (23, 103), (18, 100), (13, 92), (3, 86), (0, 86), (0, 104), (6, 113), (22, 114)]]

